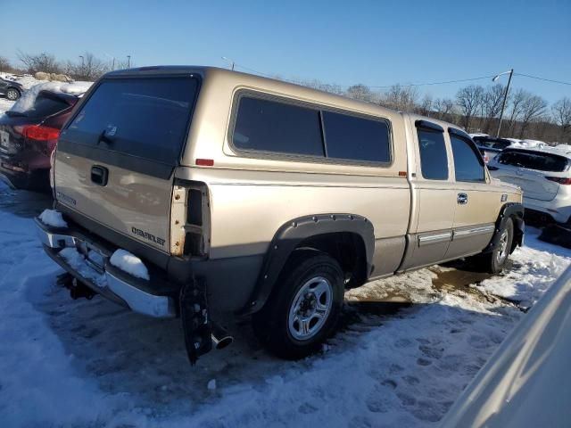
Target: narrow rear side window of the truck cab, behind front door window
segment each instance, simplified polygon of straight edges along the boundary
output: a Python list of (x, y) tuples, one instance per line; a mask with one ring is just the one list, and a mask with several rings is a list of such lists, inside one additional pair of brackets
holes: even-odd
[(418, 148), (422, 177), (427, 180), (447, 180), (448, 156), (443, 132), (418, 128)]

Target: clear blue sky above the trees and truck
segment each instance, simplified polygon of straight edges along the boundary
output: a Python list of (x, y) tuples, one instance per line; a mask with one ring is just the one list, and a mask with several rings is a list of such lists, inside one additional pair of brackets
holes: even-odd
[[(476, 78), (511, 67), (571, 81), (568, 0), (3, 0), (2, 16), (17, 17), (2, 23), (0, 55), (12, 61), (21, 49), (73, 61), (88, 51), (130, 54), (137, 66), (225, 67), (225, 55), (248, 69), (341, 85)], [(453, 96), (469, 83), (419, 89)], [(571, 96), (571, 86), (519, 76), (513, 84), (550, 102)]]

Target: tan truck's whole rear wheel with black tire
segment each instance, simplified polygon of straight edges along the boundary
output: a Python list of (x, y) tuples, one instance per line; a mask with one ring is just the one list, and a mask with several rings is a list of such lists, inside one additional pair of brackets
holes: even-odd
[[(327, 292), (316, 297), (318, 294), (312, 291), (318, 290), (318, 287), (319, 290), (326, 289), (327, 283), (331, 286), (330, 307), (324, 304), (319, 305), (315, 300), (320, 299), (320, 303), (328, 302)], [(302, 292), (302, 289), (305, 292)], [(300, 297), (298, 292), (306, 297)], [(323, 298), (324, 295), (326, 295), (325, 298)], [(296, 305), (296, 302), (300, 303)], [(314, 305), (313, 308), (312, 305)], [(319, 311), (315, 308), (317, 305), (321, 311), (323, 307), (329, 307), (327, 315), (319, 317), (315, 312), (311, 313), (311, 310)], [(295, 251), (278, 279), (268, 302), (260, 312), (254, 314), (253, 331), (260, 342), (277, 357), (304, 358), (319, 350), (321, 343), (335, 330), (342, 306), (343, 271), (339, 263), (320, 251)], [(290, 325), (292, 319), (294, 321)], [(312, 327), (310, 327), (311, 323), (313, 323)], [(305, 333), (300, 332), (303, 330), (302, 325), (307, 325), (308, 335), (306, 337), (302, 337)], [(313, 333), (310, 333), (310, 328), (315, 328)]]

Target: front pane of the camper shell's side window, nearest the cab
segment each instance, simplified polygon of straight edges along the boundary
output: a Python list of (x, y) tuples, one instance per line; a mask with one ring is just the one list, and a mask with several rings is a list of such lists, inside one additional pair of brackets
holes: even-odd
[(391, 161), (389, 127), (382, 119), (365, 119), (323, 111), (327, 157), (352, 161)]

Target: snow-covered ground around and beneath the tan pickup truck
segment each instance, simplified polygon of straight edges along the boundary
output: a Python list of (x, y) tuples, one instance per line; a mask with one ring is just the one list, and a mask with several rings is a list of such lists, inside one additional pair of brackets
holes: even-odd
[(320, 355), (273, 358), (239, 322), (232, 346), (191, 367), (179, 320), (70, 300), (56, 286), (62, 271), (31, 223), (49, 203), (37, 198), (0, 186), (0, 420), (10, 427), (434, 426), (525, 317), (515, 302), (533, 303), (571, 262), (528, 228), (503, 276), (449, 264), (347, 292), (342, 329)]

